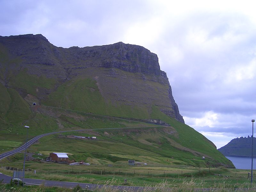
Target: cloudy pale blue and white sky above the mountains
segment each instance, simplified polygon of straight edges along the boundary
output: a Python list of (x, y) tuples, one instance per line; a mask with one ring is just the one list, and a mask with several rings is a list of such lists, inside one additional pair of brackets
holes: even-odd
[[(185, 123), (217, 148), (252, 135), (254, 1), (0, 0), (0, 36), (58, 47), (124, 42), (157, 54)], [(254, 135), (255, 136), (255, 135)]]

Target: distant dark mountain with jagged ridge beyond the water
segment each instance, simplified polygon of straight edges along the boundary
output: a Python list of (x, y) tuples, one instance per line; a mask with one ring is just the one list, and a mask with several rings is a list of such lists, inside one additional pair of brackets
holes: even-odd
[[(256, 157), (256, 138), (253, 137), (253, 157)], [(252, 137), (240, 137), (231, 140), (218, 149), (225, 156), (252, 157)]]

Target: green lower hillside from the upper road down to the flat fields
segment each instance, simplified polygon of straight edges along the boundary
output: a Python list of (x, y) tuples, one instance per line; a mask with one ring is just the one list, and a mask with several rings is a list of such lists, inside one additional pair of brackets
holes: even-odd
[[(128, 159), (195, 167), (230, 164), (230, 161), (217, 151), (202, 134), (163, 113), (155, 112), (153, 115), (156, 118), (161, 115), (161, 118), (171, 126), (147, 124), (60, 108), (41, 107), (41, 110), (50, 111), (53, 116), (61, 113), (59, 121), (56, 122), (56, 119), (46, 116), (44, 112), (36, 113), (35, 118), (28, 121), (31, 127), (28, 129), (29, 138), (58, 130), (88, 129), (88, 131), (66, 132), (62, 133), (62, 136), (56, 134), (43, 137), (38, 143), (28, 148), (30, 152), (65, 151), (73, 154), (70, 159), (89, 163), (97, 162), (97, 164), (116, 164), (118, 161)], [(153, 111), (157, 110), (153, 108)], [(61, 129), (58, 124), (62, 125)], [(38, 129), (37, 126), (42, 128)], [(13, 143), (25, 140), (26, 134), (23, 127), (7, 128), (1, 132), (0, 139), (2, 140), (9, 140)], [(70, 134), (97, 136), (97, 140), (69, 139), (66, 135)], [(201, 146), (204, 148), (200, 148)], [(0, 147), (0, 150), (4, 152), (10, 150), (11, 146), (0, 142)], [(205, 156), (206, 160), (202, 160), (202, 156)]]

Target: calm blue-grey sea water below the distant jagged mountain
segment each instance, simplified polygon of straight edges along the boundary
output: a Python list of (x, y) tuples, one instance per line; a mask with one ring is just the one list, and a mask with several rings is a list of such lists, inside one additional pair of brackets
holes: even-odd
[(252, 167), (252, 158), (250, 157), (231, 157), (226, 156), (232, 163), (235, 165), (236, 169), (256, 169), (256, 158), (253, 158), (253, 167)]

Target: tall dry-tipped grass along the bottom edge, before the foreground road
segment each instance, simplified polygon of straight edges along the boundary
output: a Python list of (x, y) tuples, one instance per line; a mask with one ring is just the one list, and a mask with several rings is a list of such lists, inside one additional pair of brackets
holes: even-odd
[[(117, 179), (112, 178), (111, 180), (105, 181), (103, 185), (99, 185), (97, 188), (90, 190), (92, 192), (133, 192), (134, 189), (125, 186), (116, 186)], [(204, 186), (204, 180), (196, 182), (193, 178), (189, 181), (184, 180), (182, 183), (168, 182), (167, 180), (162, 180), (156, 186), (145, 186), (139, 189), (139, 192), (201, 192), (201, 191), (214, 191), (214, 192), (253, 192), (256, 189), (256, 185), (253, 184), (252, 188), (248, 184), (244, 184), (241, 188), (236, 188), (236, 186), (229, 185), (228, 183), (216, 183), (212, 188), (202, 188)], [(120, 188), (119, 188), (120, 187)], [(88, 189), (82, 189), (75, 187), (74, 189), (69, 188), (59, 188), (59, 187), (46, 187), (44, 185), (40, 186), (25, 186), (17, 187), (15, 185), (0, 185), (1, 192), (87, 192)]]

